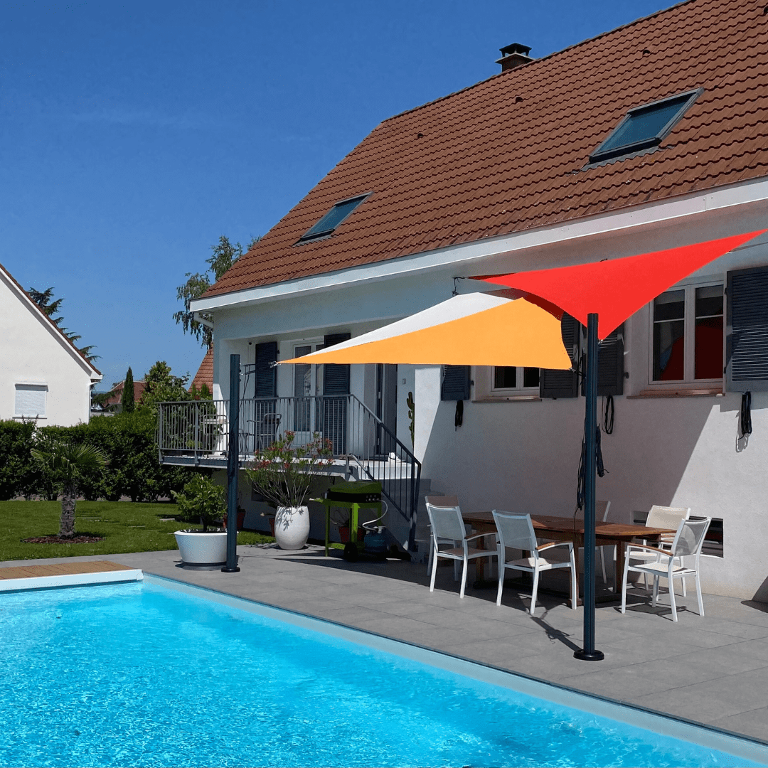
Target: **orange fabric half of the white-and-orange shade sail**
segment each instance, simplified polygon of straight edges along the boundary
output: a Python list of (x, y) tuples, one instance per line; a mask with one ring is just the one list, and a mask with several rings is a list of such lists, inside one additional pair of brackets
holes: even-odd
[(560, 320), (525, 300), (387, 339), (347, 349), (322, 349), (282, 362), (571, 368)]

